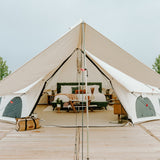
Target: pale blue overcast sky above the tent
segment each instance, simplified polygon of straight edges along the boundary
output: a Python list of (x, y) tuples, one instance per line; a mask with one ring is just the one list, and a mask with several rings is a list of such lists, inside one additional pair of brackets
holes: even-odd
[(0, 56), (15, 71), (83, 19), (152, 68), (160, 0), (0, 0)]

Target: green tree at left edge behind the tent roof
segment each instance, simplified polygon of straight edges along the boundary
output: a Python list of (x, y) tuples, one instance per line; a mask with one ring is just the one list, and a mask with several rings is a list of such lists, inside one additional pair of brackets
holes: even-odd
[(10, 73), (11, 71), (8, 70), (6, 61), (4, 61), (2, 57), (0, 57), (0, 80), (7, 77)]

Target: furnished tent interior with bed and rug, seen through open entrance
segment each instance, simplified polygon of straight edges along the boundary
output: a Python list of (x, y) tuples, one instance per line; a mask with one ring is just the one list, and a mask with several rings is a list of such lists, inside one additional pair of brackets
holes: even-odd
[[(110, 79), (89, 56), (86, 57), (86, 64), (87, 90), (82, 69), (83, 53), (78, 49), (48, 79), (34, 110), (34, 113), (44, 120), (42, 124), (81, 125), (81, 113), (86, 114), (86, 91), (90, 126), (118, 124), (120, 123), (119, 116), (117, 116), (120, 115), (119, 112), (121, 112), (122, 118), (127, 117)], [(115, 102), (119, 111), (114, 110)], [(78, 117), (78, 120), (75, 120), (75, 117)], [(114, 123), (112, 124), (112, 122)]]

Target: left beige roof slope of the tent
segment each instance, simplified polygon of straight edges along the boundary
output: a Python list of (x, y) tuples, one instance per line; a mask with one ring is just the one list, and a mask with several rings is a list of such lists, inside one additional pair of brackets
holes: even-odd
[(2, 80), (0, 96), (21, 90), (55, 70), (78, 47), (79, 33), (80, 25)]

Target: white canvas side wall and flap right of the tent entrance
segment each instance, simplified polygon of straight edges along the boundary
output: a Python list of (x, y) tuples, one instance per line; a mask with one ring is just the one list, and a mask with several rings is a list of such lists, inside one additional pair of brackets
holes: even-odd
[[(106, 71), (106, 75), (110, 77), (113, 88), (133, 123), (160, 118), (160, 104), (158, 102), (160, 91), (158, 88), (147, 86), (106, 64), (91, 53), (87, 52), (87, 54)], [(145, 118), (136, 117), (135, 104), (139, 96), (148, 97), (152, 100), (156, 110), (156, 116)]]

